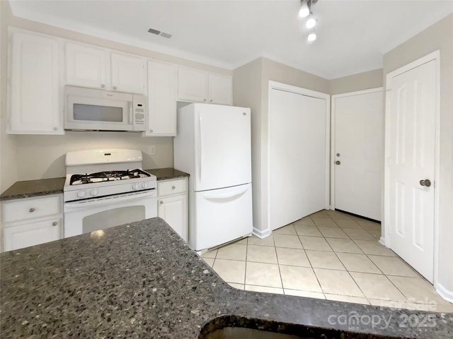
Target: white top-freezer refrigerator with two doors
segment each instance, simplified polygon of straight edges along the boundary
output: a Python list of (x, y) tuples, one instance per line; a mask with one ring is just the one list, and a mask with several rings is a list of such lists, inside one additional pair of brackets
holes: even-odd
[(189, 177), (189, 245), (219, 246), (253, 231), (251, 112), (190, 104), (178, 109), (175, 168)]

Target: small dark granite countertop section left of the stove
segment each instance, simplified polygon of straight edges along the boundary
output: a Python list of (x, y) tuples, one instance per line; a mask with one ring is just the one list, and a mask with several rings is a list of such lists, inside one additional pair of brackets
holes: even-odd
[(25, 180), (16, 182), (4, 191), (0, 200), (29, 198), (30, 196), (47, 196), (50, 194), (63, 193), (65, 178)]

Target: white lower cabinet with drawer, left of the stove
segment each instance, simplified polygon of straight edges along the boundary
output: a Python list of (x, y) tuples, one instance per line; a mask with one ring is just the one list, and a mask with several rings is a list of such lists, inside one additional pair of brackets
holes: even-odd
[(4, 250), (62, 239), (62, 194), (4, 201)]

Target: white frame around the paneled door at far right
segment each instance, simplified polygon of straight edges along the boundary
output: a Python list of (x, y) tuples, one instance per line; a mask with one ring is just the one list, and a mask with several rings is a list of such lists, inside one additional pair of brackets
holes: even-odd
[(390, 73), (386, 74), (386, 95), (385, 95), (385, 140), (384, 140), (384, 215), (382, 218), (382, 226), (384, 227), (382, 237), (379, 242), (384, 243), (386, 247), (390, 247), (390, 114), (391, 114), (391, 78), (398, 76), (399, 74), (406, 73), (415, 69), (418, 66), (428, 63), (429, 61), (435, 61), (435, 174), (432, 180), (434, 191), (434, 267), (433, 267), (433, 285), (437, 285), (437, 275), (439, 273), (439, 190), (436, 186), (439, 186), (440, 179), (440, 51), (437, 50), (432, 52), (425, 57), (421, 57), (415, 61), (412, 61), (405, 66), (400, 67)]

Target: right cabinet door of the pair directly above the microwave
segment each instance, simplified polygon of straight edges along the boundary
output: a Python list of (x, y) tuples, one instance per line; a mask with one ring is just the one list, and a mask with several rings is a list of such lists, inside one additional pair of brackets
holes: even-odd
[(146, 64), (143, 58), (111, 53), (111, 89), (119, 92), (146, 94)]

